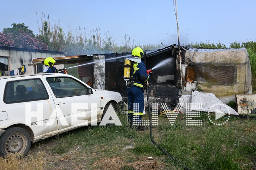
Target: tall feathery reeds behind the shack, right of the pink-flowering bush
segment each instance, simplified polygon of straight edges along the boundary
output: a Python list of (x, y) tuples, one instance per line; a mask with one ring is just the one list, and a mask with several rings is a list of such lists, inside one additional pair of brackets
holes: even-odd
[(54, 21), (51, 24), (49, 15), (41, 14), (41, 27), (38, 26), (40, 37), (49, 46), (50, 50), (67, 52), (66, 55), (93, 55), (96, 53), (130, 52), (134, 47), (142, 49), (156, 49), (161, 47), (156, 44), (139, 45), (131, 40), (128, 34), (124, 36), (124, 42), (119, 46), (112, 38), (110, 32), (101, 33), (100, 28), (93, 28), (89, 33), (85, 28), (71, 29), (65, 34), (60, 23)]

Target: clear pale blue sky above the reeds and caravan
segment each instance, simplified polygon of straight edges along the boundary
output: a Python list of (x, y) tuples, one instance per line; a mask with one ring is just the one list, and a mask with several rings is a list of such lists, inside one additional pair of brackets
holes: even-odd
[(12, 0), (1, 1), (0, 32), (24, 23), (33, 33), (42, 18), (58, 24), (67, 35), (79, 28), (87, 37), (97, 29), (124, 45), (191, 43), (225, 44), (256, 41), (255, 0)]

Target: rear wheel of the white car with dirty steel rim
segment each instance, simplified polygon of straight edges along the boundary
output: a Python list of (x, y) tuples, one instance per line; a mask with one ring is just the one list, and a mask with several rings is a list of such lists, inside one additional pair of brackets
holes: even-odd
[(28, 154), (30, 146), (30, 136), (22, 128), (9, 128), (0, 136), (0, 156), (2, 157), (7, 154), (25, 156)]

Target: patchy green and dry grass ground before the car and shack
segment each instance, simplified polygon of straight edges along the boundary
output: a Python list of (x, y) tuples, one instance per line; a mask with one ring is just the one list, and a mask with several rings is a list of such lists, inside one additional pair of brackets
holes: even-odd
[[(48, 153), (43, 158), (45, 169), (67, 166), (69, 169), (133, 170), (153, 161), (157, 161), (158, 169), (183, 169), (183, 166), (191, 170), (251, 169), (256, 161), (256, 121), (231, 116), (225, 125), (218, 126), (209, 122), (207, 114), (200, 115), (202, 126), (187, 126), (185, 115), (185, 119), (178, 116), (173, 126), (167, 117), (160, 116), (158, 126), (152, 128), (154, 141), (178, 162), (151, 142), (149, 130), (136, 132), (129, 128), (125, 114), (118, 114), (123, 126), (78, 128), (34, 144), (31, 152)], [(214, 115), (210, 118), (215, 120)], [(144, 119), (148, 119), (148, 115)], [(65, 158), (67, 161), (60, 161)]]

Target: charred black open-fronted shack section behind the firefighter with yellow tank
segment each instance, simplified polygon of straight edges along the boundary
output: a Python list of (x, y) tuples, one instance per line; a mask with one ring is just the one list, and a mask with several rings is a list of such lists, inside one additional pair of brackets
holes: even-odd
[[(147, 70), (153, 68), (148, 90), (150, 103), (171, 102), (179, 95), (180, 89), (176, 88), (175, 80), (176, 53), (175, 44), (157, 50), (144, 50), (142, 62), (145, 62)], [(105, 56), (105, 90), (119, 92), (125, 100), (127, 87), (123, 79), (124, 60), (132, 57), (131, 52), (99, 55)]]

